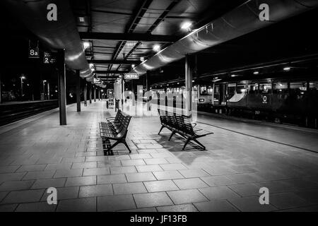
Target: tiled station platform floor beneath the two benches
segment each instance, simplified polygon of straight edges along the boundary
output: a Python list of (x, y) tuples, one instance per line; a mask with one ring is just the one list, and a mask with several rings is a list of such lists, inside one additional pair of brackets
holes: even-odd
[[(59, 126), (55, 110), (0, 129), (0, 211), (318, 210), (316, 153), (206, 124), (199, 126), (215, 133), (201, 138), (207, 150), (182, 151), (180, 138), (167, 141), (165, 130), (158, 136), (158, 117), (147, 117), (131, 121), (131, 155), (119, 145), (104, 156), (98, 121), (114, 112), (105, 102), (82, 109), (68, 107), (68, 126)], [(210, 123), (230, 129), (232, 121)], [(264, 124), (252, 129), (270, 131)], [(307, 133), (288, 136), (317, 148)], [(51, 186), (57, 206), (46, 202)], [(263, 186), (270, 205), (259, 204)]]

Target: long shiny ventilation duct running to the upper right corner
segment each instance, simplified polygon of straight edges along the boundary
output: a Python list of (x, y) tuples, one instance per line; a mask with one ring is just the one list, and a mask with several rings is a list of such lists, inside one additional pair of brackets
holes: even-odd
[[(269, 21), (259, 19), (260, 4), (269, 6)], [(198, 30), (143, 61), (134, 68), (134, 73), (144, 74), (173, 61), (184, 58), (217, 44), (240, 37), (254, 30), (265, 28), (273, 23), (304, 13), (318, 6), (317, 0), (251, 0), (213, 20)]]

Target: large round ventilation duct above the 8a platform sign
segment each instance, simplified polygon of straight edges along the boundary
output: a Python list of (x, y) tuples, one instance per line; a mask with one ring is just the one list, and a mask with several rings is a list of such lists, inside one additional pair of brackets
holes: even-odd
[[(3, 0), (2, 2), (47, 47), (52, 50), (65, 49), (65, 64), (69, 69), (81, 70), (82, 78), (93, 77), (69, 1)], [(57, 21), (47, 20), (49, 4), (57, 5)]]

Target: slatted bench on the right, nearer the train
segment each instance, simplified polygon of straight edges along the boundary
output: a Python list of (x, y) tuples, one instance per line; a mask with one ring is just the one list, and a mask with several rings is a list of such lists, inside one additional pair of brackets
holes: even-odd
[(184, 148), (186, 148), (187, 144), (190, 141), (194, 141), (198, 143), (203, 150), (206, 150), (206, 147), (201, 144), (197, 139), (213, 134), (212, 132), (204, 131), (203, 129), (194, 129), (196, 124), (193, 125), (187, 117), (184, 117), (182, 115), (173, 114), (171, 112), (163, 111), (158, 109), (159, 116), (160, 116), (160, 122), (161, 122), (161, 128), (158, 134), (163, 130), (163, 128), (167, 128), (170, 131), (172, 131), (169, 141), (172, 138), (175, 133), (178, 133), (180, 136), (186, 139), (186, 142), (184, 143)]

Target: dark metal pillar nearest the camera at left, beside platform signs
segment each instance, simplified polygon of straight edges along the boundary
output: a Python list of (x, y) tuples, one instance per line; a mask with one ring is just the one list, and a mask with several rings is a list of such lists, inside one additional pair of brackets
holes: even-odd
[(57, 52), (57, 70), (59, 76), (59, 124), (66, 125), (66, 81), (65, 81), (65, 52), (64, 49)]

